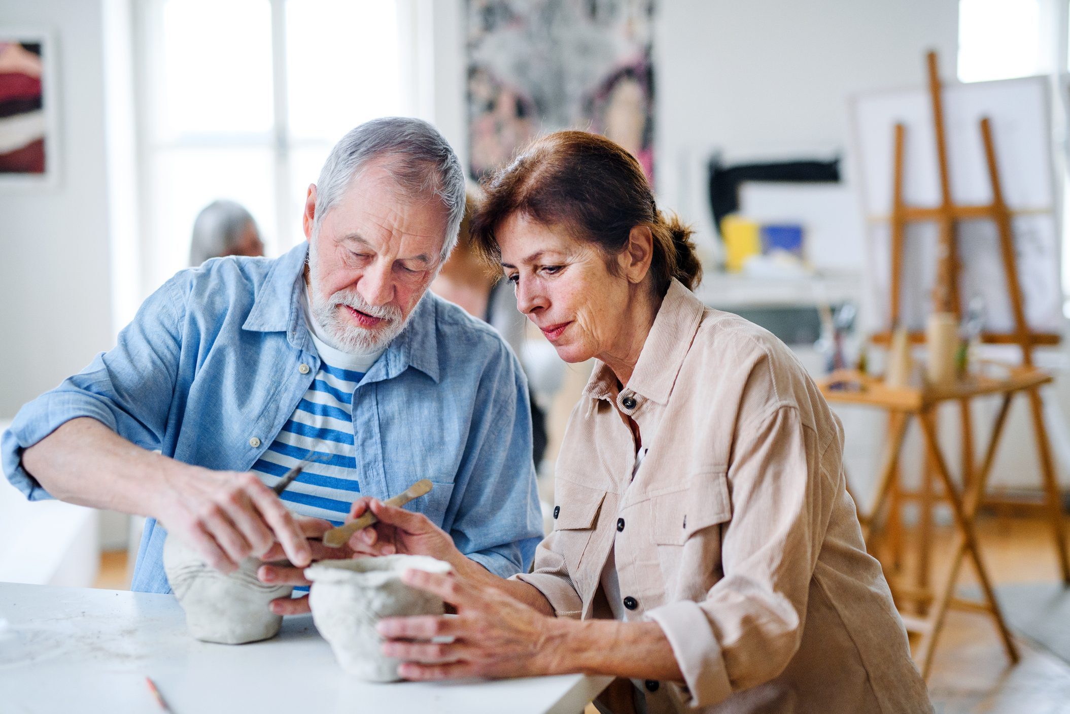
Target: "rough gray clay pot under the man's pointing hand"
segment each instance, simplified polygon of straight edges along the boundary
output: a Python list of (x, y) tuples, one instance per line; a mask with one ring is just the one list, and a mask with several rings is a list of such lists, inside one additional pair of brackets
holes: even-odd
[(274, 637), (282, 616), (270, 609), (288, 597), (293, 586), (269, 586), (257, 579), (261, 561), (246, 558), (233, 573), (221, 573), (180, 540), (164, 542), (164, 571), (171, 591), (186, 611), (190, 634), (205, 642), (243, 644)]

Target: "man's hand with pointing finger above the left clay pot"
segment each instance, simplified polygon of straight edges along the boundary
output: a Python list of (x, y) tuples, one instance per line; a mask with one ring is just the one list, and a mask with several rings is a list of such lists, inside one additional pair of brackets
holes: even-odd
[(193, 466), (169, 470), (154, 495), (151, 515), (224, 573), (233, 572), (249, 556), (262, 557), (276, 542), (294, 565), (311, 561), (293, 515), (248, 472)]

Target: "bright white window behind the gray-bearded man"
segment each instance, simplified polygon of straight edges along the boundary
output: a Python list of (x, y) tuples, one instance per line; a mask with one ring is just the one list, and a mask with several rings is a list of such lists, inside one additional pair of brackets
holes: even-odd
[[(409, 0), (139, 3), (137, 293), (188, 260), (194, 218), (245, 206), (269, 256), (304, 240), (305, 191), (348, 130), (417, 106)], [(121, 279), (121, 276), (118, 276)]]

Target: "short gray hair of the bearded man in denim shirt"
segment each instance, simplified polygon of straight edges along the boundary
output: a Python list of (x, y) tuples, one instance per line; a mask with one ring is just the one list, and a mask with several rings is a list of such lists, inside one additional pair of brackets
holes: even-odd
[(457, 231), (464, 217), (464, 171), (442, 134), (422, 119), (372, 119), (341, 137), (316, 184), (314, 232), (319, 233), (323, 217), (350, 182), (379, 156), (396, 158), (391, 173), (409, 196), (431, 196), (442, 201), (448, 218), (440, 264), (445, 262), (457, 244)]

